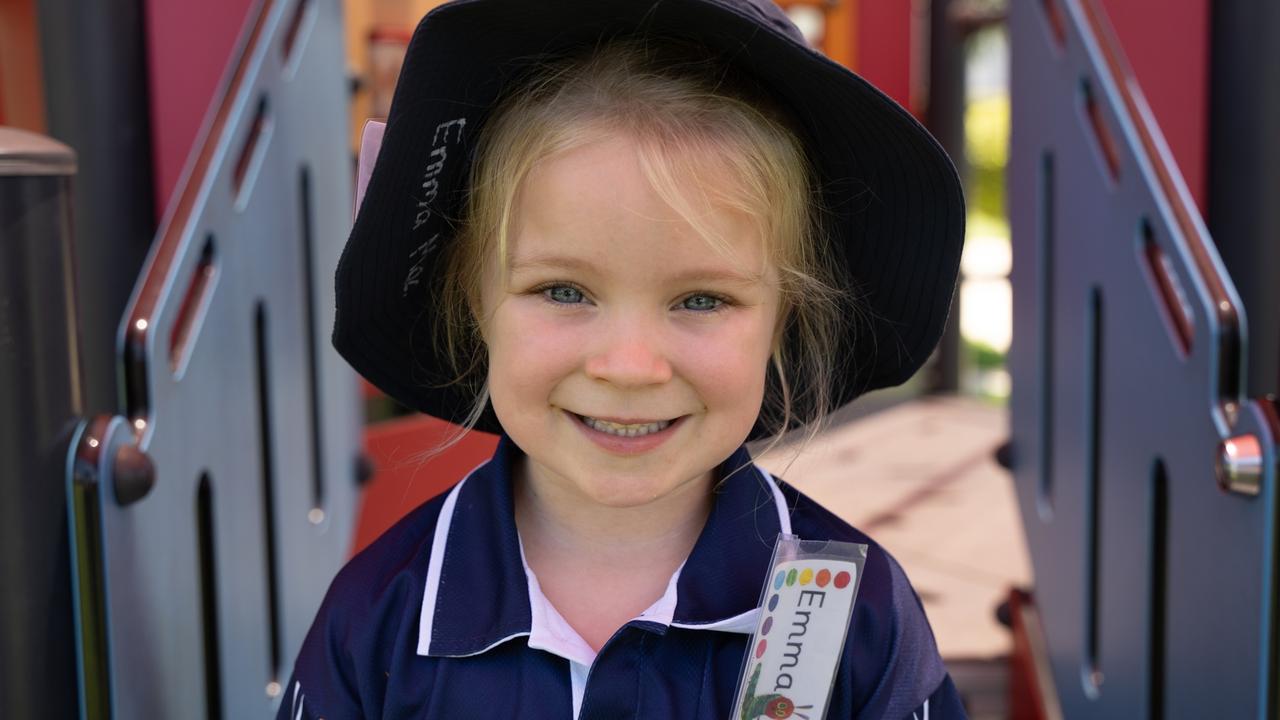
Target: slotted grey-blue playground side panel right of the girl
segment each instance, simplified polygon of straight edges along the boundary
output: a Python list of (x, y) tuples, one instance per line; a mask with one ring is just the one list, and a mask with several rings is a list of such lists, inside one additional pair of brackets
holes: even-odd
[[(1174, 164), (1158, 131), (1144, 140), (1155, 123), (1140, 95), (1126, 105), (1137, 91), (1120, 85), (1097, 10), (1010, 5), (1014, 465), (1062, 710), (1267, 716), (1275, 465), (1263, 405), (1238, 410), (1243, 309), (1176, 170), (1161, 177)], [(1185, 295), (1187, 354), (1144, 227)], [(1258, 496), (1215, 480), (1219, 442), (1239, 432), (1265, 448)]]

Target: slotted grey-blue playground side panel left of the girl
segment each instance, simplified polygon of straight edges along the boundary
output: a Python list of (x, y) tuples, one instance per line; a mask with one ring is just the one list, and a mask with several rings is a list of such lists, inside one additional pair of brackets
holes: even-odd
[[(353, 529), (360, 405), (328, 341), (351, 220), (340, 5), (265, 1), (246, 28), (120, 325), (129, 415), (99, 484), (118, 717), (273, 715)], [(155, 482), (131, 501), (110, 456), (132, 443)]]

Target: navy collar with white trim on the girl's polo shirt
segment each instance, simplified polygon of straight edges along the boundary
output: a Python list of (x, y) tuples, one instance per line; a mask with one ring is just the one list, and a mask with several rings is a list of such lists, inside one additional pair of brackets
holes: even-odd
[[(567, 628), (549, 603), (530, 602), (536, 578), (526, 571), (511, 491), (520, 452), (503, 436), (493, 457), (454, 486), (440, 507), (422, 593), (419, 655), (477, 655), (531, 633), (532, 646)], [(710, 515), (694, 550), (672, 575), (667, 593), (639, 620), (659, 629), (754, 630), (773, 543), (780, 532), (791, 532), (790, 514), (777, 483), (751, 462), (745, 447), (721, 464), (717, 477)], [(543, 597), (540, 589), (536, 596)]]

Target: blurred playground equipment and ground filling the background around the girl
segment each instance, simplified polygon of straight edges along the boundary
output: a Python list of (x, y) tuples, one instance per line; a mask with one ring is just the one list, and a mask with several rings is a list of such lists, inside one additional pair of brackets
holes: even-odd
[[(969, 218), (929, 364), (762, 464), (902, 562), (973, 717), (1280, 715), (1280, 5), (778, 3)], [(424, 461), (328, 342), (438, 4), (0, 0), (0, 715), (273, 716), (338, 568), (492, 451)]]

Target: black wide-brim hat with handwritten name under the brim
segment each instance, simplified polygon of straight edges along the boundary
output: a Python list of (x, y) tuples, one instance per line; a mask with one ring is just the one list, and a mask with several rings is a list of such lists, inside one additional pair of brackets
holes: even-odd
[[(442, 249), (453, 242), (480, 128), (531, 61), (636, 33), (731, 58), (799, 124), (838, 279), (870, 318), (849, 323), (831, 359), (835, 404), (910, 378), (951, 306), (964, 242), (960, 181), (910, 113), (809, 47), (772, 0), (456, 0), (429, 13), (410, 41), (338, 264), (338, 352), (408, 407), (454, 423), (467, 416), (474, 387), (452, 382), (430, 333)], [(492, 410), (476, 427), (500, 430)]]

